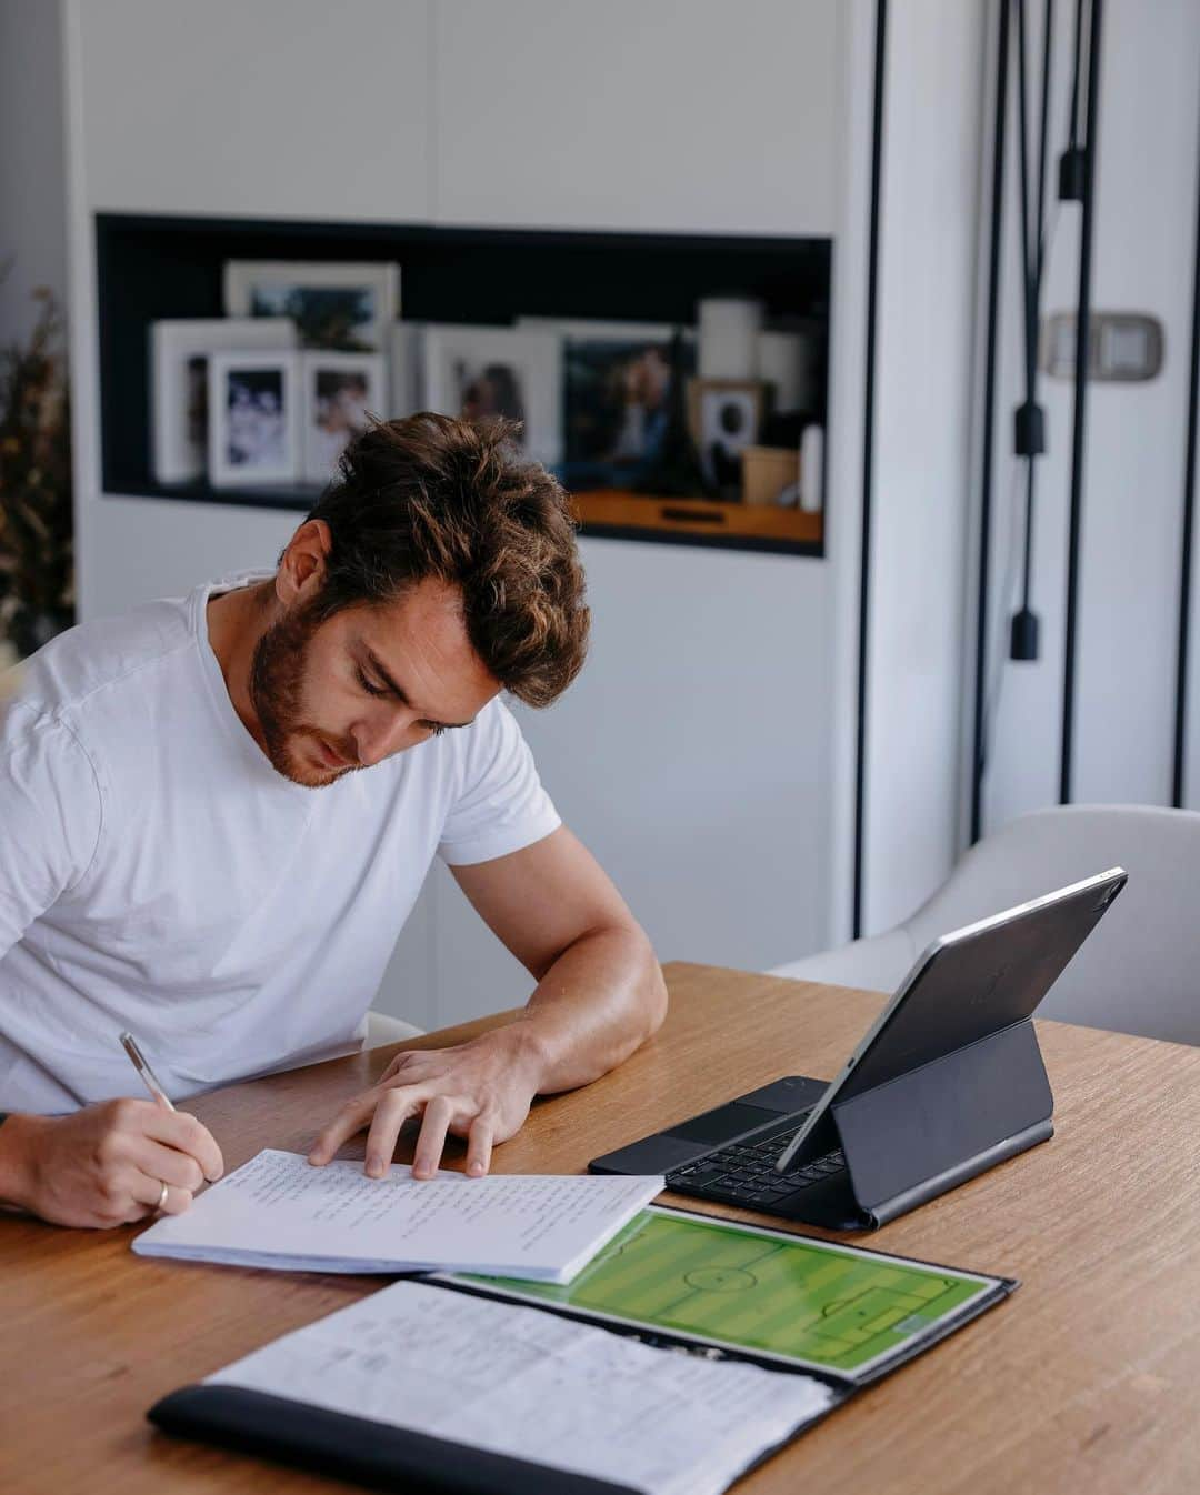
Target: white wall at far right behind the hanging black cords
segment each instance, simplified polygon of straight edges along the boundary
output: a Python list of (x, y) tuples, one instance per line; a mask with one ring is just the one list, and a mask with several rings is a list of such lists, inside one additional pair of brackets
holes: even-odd
[[(1052, 154), (1064, 142), (1071, 7), (1058, 7)], [(1040, 36), (1041, 7), (1031, 9)], [(1086, 399), (1085, 505), (1076, 650), (1076, 801), (1170, 803), (1184, 492), (1184, 440), (1197, 175), (1200, 7), (1191, 0), (1107, 0), (1095, 188), (1092, 306), (1146, 311), (1166, 326), (1166, 362), (1148, 384), (1095, 384)], [(1011, 129), (1011, 115), (1010, 115)], [(991, 133), (991, 130), (989, 130)], [(1070, 501), (1071, 384), (1041, 375), (1049, 451), (1038, 459), (1034, 597), (1037, 662), (1004, 662), (1014, 589), (1005, 562), (1023, 535), (1013, 493), (1011, 411), (1022, 395), (1017, 187), (1008, 141), (998, 456), (992, 525), (992, 680), (1000, 707), (985, 788), (985, 830), (1058, 803)], [(1053, 185), (1053, 178), (1052, 178)], [(1053, 196), (1053, 193), (1052, 193)], [(1056, 208), (1044, 314), (1074, 311), (1076, 203)], [(1200, 682), (1197, 682), (1200, 683)], [(1196, 689), (1196, 686), (1194, 686)], [(1200, 700), (1200, 695), (1194, 697)], [(1196, 742), (1196, 739), (1194, 739)], [(1193, 748), (1199, 753), (1200, 748)], [(1194, 756), (1200, 770), (1200, 756)], [(1191, 774), (1200, 803), (1200, 771)]]

